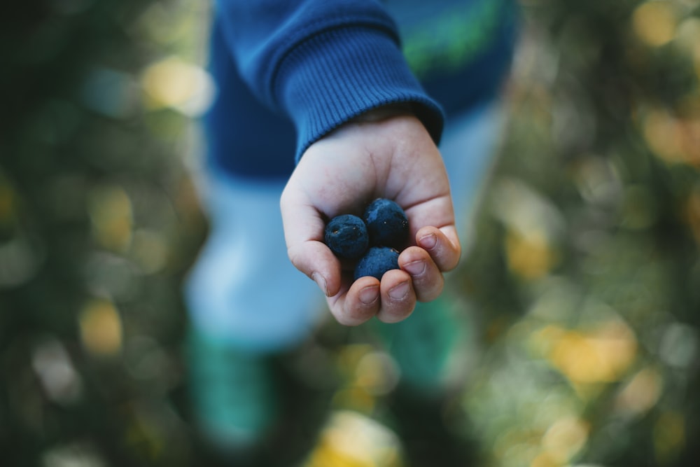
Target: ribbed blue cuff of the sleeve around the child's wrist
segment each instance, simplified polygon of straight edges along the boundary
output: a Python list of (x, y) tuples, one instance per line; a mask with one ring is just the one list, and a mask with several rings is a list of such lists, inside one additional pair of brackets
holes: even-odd
[(297, 128), (296, 160), (335, 127), (379, 106), (409, 103), (437, 144), (444, 115), (416, 80), (391, 35), (380, 29), (332, 29), (283, 60), (276, 96)]

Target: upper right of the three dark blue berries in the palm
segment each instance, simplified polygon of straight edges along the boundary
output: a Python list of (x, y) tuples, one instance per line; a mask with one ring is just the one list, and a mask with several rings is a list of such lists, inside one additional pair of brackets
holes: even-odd
[(370, 244), (401, 249), (408, 239), (408, 218), (394, 201), (378, 198), (365, 208)]

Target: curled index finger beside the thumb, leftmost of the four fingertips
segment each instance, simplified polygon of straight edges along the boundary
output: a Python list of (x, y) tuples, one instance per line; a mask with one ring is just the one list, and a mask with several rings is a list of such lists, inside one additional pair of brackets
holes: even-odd
[(360, 277), (347, 291), (328, 298), (330, 312), (345, 326), (358, 326), (379, 312), (379, 281), (374, 277)]

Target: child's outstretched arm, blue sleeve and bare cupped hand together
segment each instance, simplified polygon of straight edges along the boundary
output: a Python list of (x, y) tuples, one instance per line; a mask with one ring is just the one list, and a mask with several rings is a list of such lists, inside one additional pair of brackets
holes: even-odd
[[(435, 147), (444, 116), (409, 69), (381, 3), (217, 0), (216, 5), (241, 77), (297, 130), (290, 157), (299, 164), (281, 200), (294, 265), (321, 285), (341, 323), (358, 324), (374, 315), (400, 321), (416, 299), (436, 298), (442, 272), (456, 266), (460, 253), (447, 176)], [(402, 105), (409, 111), (382, 115)], [(381, 285), (365, 277), (351, 286), (321, 242), (324, 216), (358, 210), (374, 197), (391, 198), (406, 210), (421, 247), (403, 251), (402, 270), (388, 272)], [(436, 240), (434, 247), (429, 239)], [(391, 298), (400, 285), (405, 293)]]

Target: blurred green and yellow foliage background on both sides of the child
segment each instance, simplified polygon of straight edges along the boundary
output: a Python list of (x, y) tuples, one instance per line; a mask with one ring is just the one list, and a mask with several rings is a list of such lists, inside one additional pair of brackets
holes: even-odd
[[(500, 158), (452, 279), (475, 342), (465, 417), (446, 419), (482, 466), (696, 465), (700, 1), (520, 3)], [(180, 287), (207, 233), (188, 167), (208, 18), (184, 0), (3, 8), (2, 465), (204, 463)], [(386, 383), (326, 335), (335, 379), (307, 367), (309, 386)]]

